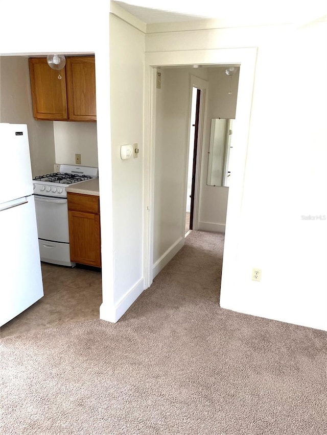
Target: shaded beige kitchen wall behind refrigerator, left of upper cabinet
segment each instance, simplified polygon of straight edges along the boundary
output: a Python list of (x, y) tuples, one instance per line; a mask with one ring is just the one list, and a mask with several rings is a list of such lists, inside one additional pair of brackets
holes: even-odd
[(33, 176), (53, 171), (53, 122), (33, 118), (27, 57), (0, 57), (0, 122), (27, 124)]

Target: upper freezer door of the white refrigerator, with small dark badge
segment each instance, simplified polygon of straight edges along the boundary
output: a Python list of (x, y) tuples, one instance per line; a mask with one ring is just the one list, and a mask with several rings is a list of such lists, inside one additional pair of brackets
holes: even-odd
[(26, 124), (0, 123), (0, 203), (33, 193)]

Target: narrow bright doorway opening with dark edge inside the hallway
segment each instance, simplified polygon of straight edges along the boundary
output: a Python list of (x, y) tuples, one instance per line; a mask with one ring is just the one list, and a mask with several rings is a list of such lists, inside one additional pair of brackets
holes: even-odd
[(193, 86), (192, 104), (191, 104), (189, 164), (188, 164), (188, 188), (186, 192), (185, 235), (187, 235), (189, 231), (192, 231), (193, 229), (200, 99), (201, 99), (201, 90)]

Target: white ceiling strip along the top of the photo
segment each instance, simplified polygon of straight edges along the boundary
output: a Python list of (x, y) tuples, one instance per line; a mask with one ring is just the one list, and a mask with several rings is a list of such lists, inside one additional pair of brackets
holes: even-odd
[(325, 16), (326, 0), (126, 0), (114, 1), (141, 21), (150, 23), (217, 19), (227, 25), (310, 22)]

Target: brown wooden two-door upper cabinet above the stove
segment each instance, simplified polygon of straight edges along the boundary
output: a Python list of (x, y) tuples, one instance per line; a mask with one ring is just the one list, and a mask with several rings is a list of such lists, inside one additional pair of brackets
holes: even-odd
[(30, 58), (29, 64), (35, 119), (97, 120), (94, 56), (67, 57), (61, 80), (46, 58)]

